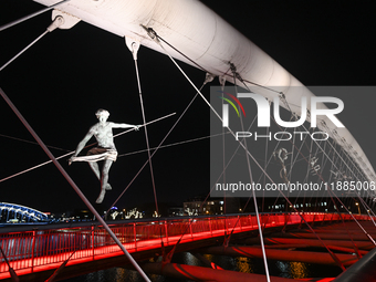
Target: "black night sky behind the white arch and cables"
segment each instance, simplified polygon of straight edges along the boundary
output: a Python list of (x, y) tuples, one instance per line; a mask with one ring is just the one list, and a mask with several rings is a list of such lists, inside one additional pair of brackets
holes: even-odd
[[(258, 44), (305, 85), (375, 84), (374, 1), (202, 1), (236, 29)], [(29, 0), (1, 0), (0, 25), (43, 7)], [(50, 24), (51, 12), (0, 32), (0, 65), (39, 36)], [(138, 66), (147, 121), (176, 112), (148, 127), (150, 146), (167, 134), (186, 108), (195, 90), (160, 53), (140, 49)], [(196, 85), (205, 73), (182, 65)], [(218, 84), (218, 81), (215, 82)], [(134, 62), (124, 39), (80, 22), (71, 30), (46, 34), (0, 73), (0, 87), (54, 156), (74, 150), (96, 123), (95, 111), (106, 108), (109, 119), (142, 124)], [(203, 91), (209, 94), (209, 87)], [(345, 109), (338, 116), (352, 132), (370, 163), (376, 164), (374, 105), (376, 96), (357, 93), (337, 96)], [(0, 101), (0, 179), (48, 160), (43, 150), (30, 143), (31, 135), (4, 101)], [(121, 130), (116, 130), (118, 133)], [(166, 144), (209, 135), (209, 109), (195, 101)], [(8, 137), (7, 137), (8, 136)], [(94, 142), (94, 140), (92, 140)], [(115, 139), (119, 155), (145, 149), (143, 130)], [(147, 154), (122, 156), (113, 165), (104, 205), (111, 205), (127, 186)], [(100, 184), (83, 163), (61, 164), (90, 201)], [(189, 197), (209, 192), (209, 140), (160, 149), (153, 158), (158, 201), (181, 203)], [(84, 207), (73, 189), (52, 165), (0, 182), (0, 201), (17, 202), (42, 211)], [(119, 207), (153, 202), (148, 167), (119, 201)]]

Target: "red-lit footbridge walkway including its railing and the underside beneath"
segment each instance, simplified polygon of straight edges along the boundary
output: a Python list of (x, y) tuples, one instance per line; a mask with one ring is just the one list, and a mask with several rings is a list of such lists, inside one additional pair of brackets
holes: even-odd
[[(357, 220), (370, 220), (368, 216), (354, 217)], [(351, 215), (342, 215), (342, 218), (352, 220)], [(261, 224), (268, 230), (302, 224), (303, 219), (310, 224), (322, 224), (341, 221), (341, 216), (322, 212), (260, 215)], [(163, 244), (168, 251), (179, 240), (176, 251), (187, 251), (223, 242), (223, 238), (229, 234), (249, 238), (251, 233), (258, 234), (254, 215), (138, 220), (109, 227), (137, 261), (161, 255)], [(19, 228), (0, 230), (0, 247), (10, 267), (22, 278), (21, 281), (44, 281), (70, 255), (60, 279), (128, 263), (119, 247), (101, 226), (90, 222), (83, 226), (81, 222), (80, 226), (71, 227), (53, 224), (33, 230), (30, 227), (29, 230), (25, 230), (27, 227)], [(356, 261), (356, 257), (352, 258)], [(10, 281), (4, 258), (1, 258), (0, 280)]]

